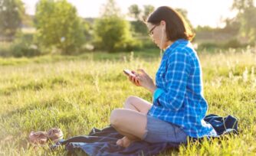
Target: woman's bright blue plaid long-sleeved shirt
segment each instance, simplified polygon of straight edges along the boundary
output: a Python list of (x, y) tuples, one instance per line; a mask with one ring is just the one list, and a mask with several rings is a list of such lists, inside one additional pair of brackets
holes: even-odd
[(216, 135), (203, 120), (208, 104), (203, 97), (199, 57), (189, 41), (179, 39), (165, 50), (156, 87), (148, 115), (178, 125), (191, 137)]

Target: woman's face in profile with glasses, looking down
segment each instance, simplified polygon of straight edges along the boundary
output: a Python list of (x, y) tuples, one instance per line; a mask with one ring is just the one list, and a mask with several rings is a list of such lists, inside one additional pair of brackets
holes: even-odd
[(164, 49), (166, 47), (166, 42), (168, 41), (166, 37), (165, 21), (161, 21), (160, 24), (147, 23), (146, 26), (149, 29), (149, 36), (152, 38), (153, 42), (160, 49)]

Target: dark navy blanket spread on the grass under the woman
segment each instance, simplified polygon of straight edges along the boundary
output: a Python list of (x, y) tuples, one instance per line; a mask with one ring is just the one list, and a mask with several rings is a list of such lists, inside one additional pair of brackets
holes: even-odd
[[(238, 133), (238, 119), (228, 115), (206, 115), (205, 122), (210, 123), (218, 137), (223, 134)], [(128, 148), (116, 145), (118, 139), (123, 138), (111, 125), (103, 129), (93, 128), (89, 135), (80, 135), (66, 140), (61, 140), (51, 148), (64, 145), (69, 154), (74, 154), (77, 149), (87, 155), (156, 155), (170, 148), (179, 148), (179, 144), (173, 142), (149, 143), (135, 141)], [(192, 138), (193, 140), (197, 138)]]

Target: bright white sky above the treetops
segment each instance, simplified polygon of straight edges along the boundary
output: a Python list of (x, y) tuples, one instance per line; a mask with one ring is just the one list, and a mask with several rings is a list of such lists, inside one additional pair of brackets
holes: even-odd
[[(25, 3), (26, 12), (34, 15), (35, 5), (38, 0), (21, 0)], [(107, 0), (67, 0), (77, 8), (78, 15), (83, 18), (97, 18), (100, 8)], [(233, 0), (116, 0), (122, 14), (128, 13), (130, 5), (153, 5), (155, 8), (167, 5), (172, 8), (184, 8), (188, 11), (188, 18), (194, 27), (208, 25), (212, 28), (224, 27), (225, 18), (233, 18), (235, 11), (231, 11)]]

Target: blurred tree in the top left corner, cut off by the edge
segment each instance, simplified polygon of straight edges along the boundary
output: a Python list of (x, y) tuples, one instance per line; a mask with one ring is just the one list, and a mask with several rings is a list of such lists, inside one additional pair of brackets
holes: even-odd
[(0, 34), (11, 40), (21, 27), (25, 8), (21, 0), (0, 0)]

